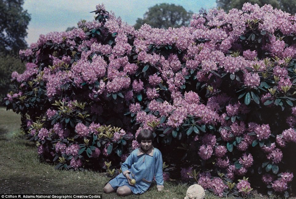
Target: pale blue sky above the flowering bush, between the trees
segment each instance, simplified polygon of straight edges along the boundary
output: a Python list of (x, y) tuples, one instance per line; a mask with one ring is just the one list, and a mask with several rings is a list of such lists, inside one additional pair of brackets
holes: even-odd
[(134, 25), (137, 18), (143, 18), (148, 8), (155, 4), (180, 5), (194, 13), (198, 13), (201, 8), (211, 9), (216, 6), (216, 0), (25, 0), (23, 9), (31, 16), (26, 42), (30, 45), (37, 42), (40, 34), (76, 27), (82, 19), (94, 20), (94, 13), (90, 12), (102, 3), (107, 11), (112, 10), (116, 17), (120, 16), (122, 21), (130, 25)]

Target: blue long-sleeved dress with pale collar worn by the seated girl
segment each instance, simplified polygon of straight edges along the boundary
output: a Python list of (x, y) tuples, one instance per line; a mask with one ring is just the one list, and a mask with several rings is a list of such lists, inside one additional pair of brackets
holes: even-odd
[[(134, 194), (142, 194), (149, 189), (154, 176), (157, 188), (163, 188), (162, 154), (157, 148), (152, 147), (146, 153), (141, 148), (135, 149), (121, 165), (121, 170), (122, 173), (109, 181), (113, 189), (127, 186)], [(136, 180), (134, 186), (129, 185), (126, 173)]]

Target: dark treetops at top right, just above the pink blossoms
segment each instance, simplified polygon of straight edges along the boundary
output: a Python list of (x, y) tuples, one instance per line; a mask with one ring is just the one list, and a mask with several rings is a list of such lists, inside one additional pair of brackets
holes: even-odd
[(296, 0), (217, 0), (217, 6), (223, 8), (226, 12), (232, 8), (242, 9), (246, 2), (257, 3), (260, 7), (264, 4), (270, 4), (274, 8), (282, 9), (291, 14), (296, 13)]

